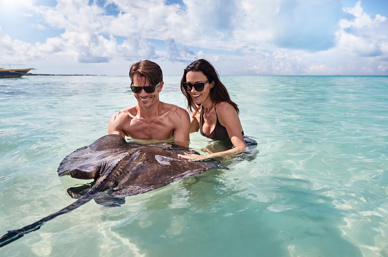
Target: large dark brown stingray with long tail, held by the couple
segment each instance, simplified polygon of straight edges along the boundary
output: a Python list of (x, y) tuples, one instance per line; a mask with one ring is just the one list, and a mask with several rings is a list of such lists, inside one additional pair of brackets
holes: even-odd
[(161, 188), (212, 168), (228, 169), (212, 159), (193, 162), (177, 157), (184, 152), (196, 153), (189, 148), (168, 143), (127, 143), (119, 135), (106, 135), (89, 146), (78, 148), (59, 164), (58, 175), (94, 179), (92, 186), (87, 189), (84, 186), (69, 188), (69, 195), (78, 200), (24, 228), (8, 231), (0, 238), (0, 247), (92, 199), (102, 205), (118, 206), (123, 204), (126, 196)]

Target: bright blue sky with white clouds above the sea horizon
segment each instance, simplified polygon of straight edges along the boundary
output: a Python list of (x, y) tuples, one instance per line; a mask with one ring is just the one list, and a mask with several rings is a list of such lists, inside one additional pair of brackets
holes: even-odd
[[(127, 75), (388, 75), (387, 0), (0, 0), (0, 65)], [(1, 67), (1, 66), (0, 66)]]

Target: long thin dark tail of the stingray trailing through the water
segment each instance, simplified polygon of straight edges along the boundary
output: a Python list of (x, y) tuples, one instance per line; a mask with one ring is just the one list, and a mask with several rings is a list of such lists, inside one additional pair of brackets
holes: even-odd
[(87, 202), (89, 202), (95, 197), (95, 194), (96, 192), (94, 190), (91, 190), (89, 191), (89, 193), (87, 193), (80, 199), (76, 200), (73, 204), (70, 204), (67, 207), (63, 208), (62, 210), (59, 210), (47, 217), (44, 217), (43, 219), (36, 221), (35, 223), (30, 224), (28, 226), (25, 226), (24, 228), (8, 231), (7, 234), (3, 235), (0, 238), (0, 247), (3, 247), (4, 245), (8, 245), (9, 243), (21, 238), (22, 236), (32, 231), (40, 229), (40, 227), (43, 226), (43, 224), (45, 224), (47, 221), (54, 219), (55, 217), (71, 212), (72, 210), (80, 207), (81, 205), (86, 204)]

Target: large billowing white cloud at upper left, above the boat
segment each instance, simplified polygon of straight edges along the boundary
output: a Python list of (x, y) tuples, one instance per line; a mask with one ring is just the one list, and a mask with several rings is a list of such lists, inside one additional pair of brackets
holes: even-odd
[[(58, 1), (55, 7), (30, 6), (30, 9), (43, 17), (44, 21), (56, 29), (64, 29), (64, 33), (55, 38), (47, 38), (45, 43), (30, 45), (19, 41), (12, 41), (9, 36), (1, 35), (3, 42), (7, 42), (9, 55), (13, 59), (28, 60), (42, 56), (42, 59), (55, 57), (66, 58), (80, 63), (109, 62), (113, 58), (155, 58), (154, 46), (139, 34), (127, 34), (127, 40), (120, 45), (116, 38), (109, 34), (106, 24), (112, 17), (105, 16), (105, 10), (97, 5), (88, 5), (87, 0)], [(115, 21), (116, 19), (113, 19)], [(128, 24), (128, 23), (126, 23)], [(40, 30), (47, 29), (42, 24), (34, 25)], [(123, 27), (123, 30), (128, 26)], [(134, 30), (138, 29), (134, 26)], [(108, 36), (106, 36), (108, 37)], [(11, 43), (12, 42), (12, 43)], [(5, 43), (3, 43), (4, 45)], [(28, 52), (17, 55), (17, 48), (29, 47)], [(47, 56), (47, 53), (51, 53)]]

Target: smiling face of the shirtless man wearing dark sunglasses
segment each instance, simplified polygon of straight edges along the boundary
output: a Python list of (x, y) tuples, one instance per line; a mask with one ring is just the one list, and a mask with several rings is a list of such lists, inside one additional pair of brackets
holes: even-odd
[[(155, 86), (151, 85), (149, 80), (145, 77), (135, 76), (133, 78), (133, 86)], [(133, 93), (137, 99), (137, 103), (139, 106), (143, 108), (150, 108), (156, 102), (159, 101), (159, 92), (163, 88), (163, 81), (160, 83), (158, 87), (155, 88), (153, 93), (147, 93), (144, 89), (140, 93)]]

